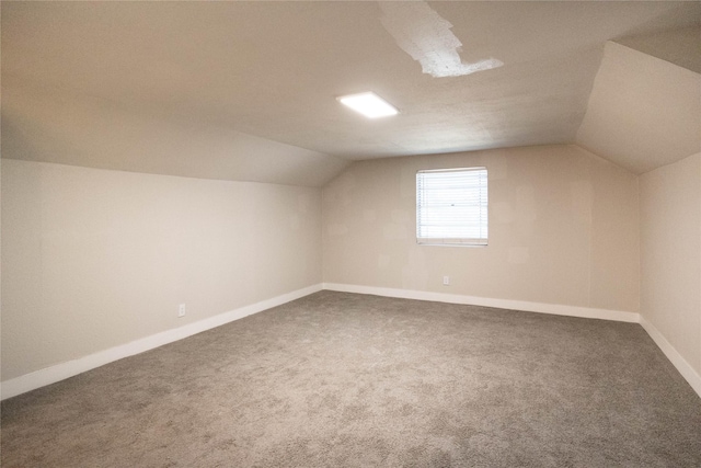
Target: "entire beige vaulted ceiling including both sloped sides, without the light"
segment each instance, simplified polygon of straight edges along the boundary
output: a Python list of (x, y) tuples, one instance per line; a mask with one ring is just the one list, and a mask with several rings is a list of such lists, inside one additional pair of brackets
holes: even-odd
[[(2, 157), (320, 186), (348, 161), (701, 150), (699, 2), (2, 2)], [(375, 91), (368, 121), (336, 96)]]

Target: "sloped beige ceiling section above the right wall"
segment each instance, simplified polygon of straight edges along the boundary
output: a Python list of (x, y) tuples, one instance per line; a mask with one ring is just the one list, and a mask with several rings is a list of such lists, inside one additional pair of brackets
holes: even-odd
[(636, 174), (701, 150), (701, 75), (608, 42), (575, 142)]

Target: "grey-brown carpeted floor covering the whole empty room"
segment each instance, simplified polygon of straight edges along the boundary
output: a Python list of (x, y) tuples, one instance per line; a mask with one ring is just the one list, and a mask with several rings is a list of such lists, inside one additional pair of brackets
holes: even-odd
[(3, 467), (700, 467), (639, 324), (322, 292), (2, 403)]

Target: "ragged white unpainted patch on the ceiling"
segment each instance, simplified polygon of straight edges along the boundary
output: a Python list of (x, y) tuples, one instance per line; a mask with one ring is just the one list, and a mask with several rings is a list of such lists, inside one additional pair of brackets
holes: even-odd
[(418, 61), (424, 73), (435, 78), (460, 77), (504, 65), (496, 58), (463, 64), (462, 43), (452, 34), (452, 24), (424, 1), (380, 2), (384, 28), (397, 44)]

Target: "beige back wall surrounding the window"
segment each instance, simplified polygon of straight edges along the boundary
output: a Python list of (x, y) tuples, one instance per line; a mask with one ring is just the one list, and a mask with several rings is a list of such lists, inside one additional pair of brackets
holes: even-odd
[[(473, 165), (489, 247), (416, 244), (416, 171)], [(325, 283), (639, 310), (637, 178), (577, 146), (358, 161), (322, 207)]]

